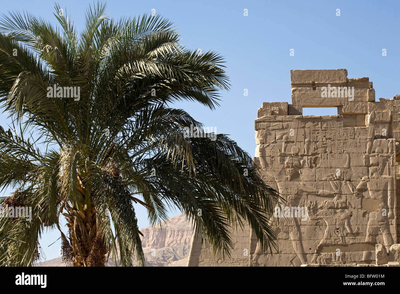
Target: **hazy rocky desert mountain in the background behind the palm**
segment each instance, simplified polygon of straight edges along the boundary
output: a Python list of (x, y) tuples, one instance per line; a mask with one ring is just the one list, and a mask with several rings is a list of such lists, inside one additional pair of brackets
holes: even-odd
[[(192, 242), (193, 227), (185, 214), (179, 214), (162, 224), (140, 229), (146, 266), (186, 266)], [(110, 258), (107, 266), (119, 265)], [(36, 266), (72, 266), (54, 258)]]

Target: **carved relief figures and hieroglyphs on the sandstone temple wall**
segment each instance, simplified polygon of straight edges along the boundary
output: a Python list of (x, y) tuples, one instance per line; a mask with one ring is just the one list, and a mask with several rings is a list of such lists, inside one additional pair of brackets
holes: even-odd
[[(343, 127), (340, 117), (337, 119), (322, 117), (318, 121), (319, 119), (320, 117), (314, 120), (303, 119), (303, 124), (299, 124), (298, 119), (295, 119), (292, 124), (289, 123), (292, 126), (290, 130), (276, 129), (278, 136), (268, 144), (262, 147), (260, 145), (262, 148), (260, 162), (265, 173), (263, 179), (266, 182), (272, 179), (276, 182), (279, 192), (286, 198), (286, 206), (307, 207), (308, 212), (307, 221), (294, 217), (280, 219), (275, 230), (287, 232), (289, 238), (287, 240), (278, 238), (278, 242), (280, 245), (282, 242), (291, 242), (292, 253), (297, 256), (297, 263), (300, 264), (309, 263), (308, 254), (313, 256), (312, 260), (322, 264), (326, 264), (328, 260), (334, 263), (345, 262), (344, 258), (340, 259), (341, 255), (334, 255), (333, 259), (318, 258), (318, 252), (324, 246), (330, 246), (332, 254), (336, 254), (333, 246), (336, 244), (376, 243), (379, 239), (389, 250), (394, 244), (390, 232), (390, 220), (393, 218), (394, 208), (394, 163), (396, 162), (394, 140), (375, 140), (373, 129), (370, 131), (368, 127)], [(307, 127), (311, 127), (310, 136), (308, 138), (302, 136), (299, 139), (299, 133), (308, 134), (304, 132)], [(268, 149), (268, 152), (264, 152), (265, 149)], [(368, 175), (357, 175), (357, 172), (352, 170), (350, 152), (362, 157), (362, 165), (368, 167)], [(268, 156), (263, 158), (267, 153)], [(309, 182), (303, 179), (303, 174), (310, 174), (311, 169), (318, 168), (327, 168), (330, 172), (327, 172), (320, 181)], [(364, 191), (368, 194), (364, 194)], [(376, 211), (359, 214), (357, 210), (349, 209), (348, 196), (360, 198), (361, 202), (364, 198), (378, 200), (380, 206), (376, 207)], [(384, 209), (387, 214), (384, 213)], [(362, 205), (359, 210), (363, 211)], [(358, 215), (364, 215), (364, 220), (359, 220)], [(322, 238), (304, 234), (302, 226), (307, 228), (316, 226), (324, 230)], [(306, 240), (316, 242), (315, 252), (306, 253), (303, 245)], [(254, 253), (250, 257), (250, 264), (278, 265), (274, 264), (274, 260), (277, 260), (276, 255), (279, 254), (279, 251), (272, 254), (275, 255), (275, 259), (266, 258), (266, 252), (256, 244)], [(293, 264), (292, 261), (291, 263)]]

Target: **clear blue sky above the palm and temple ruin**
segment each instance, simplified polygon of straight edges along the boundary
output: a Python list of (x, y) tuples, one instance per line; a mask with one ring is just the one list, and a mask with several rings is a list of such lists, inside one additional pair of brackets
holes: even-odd
[[(58, 1), (82, 28), (86, 0)], [(0, 12), (27, 10), (55, 22), (54, 2), (2, 1)], [(221, 107), (210, 111), (199, 104), (182, 103), (196, 120), (216, 127), (254, 156), (254, 119), (262, 102), (290, 103), (291, 69), (346, 68), (349, 78), (367, 76), (378, 97), (392, 98), (399, 87), (399, 2), (397, 1), (236, 1), (171, 0), (108, 1), (110, 18), (156, 13), (172, 20), (188, 48), (215, 50), (226, 58), (232, 88), (222, 93)], [(340, 16), (336, 16), (336, 9)], [(244, 9), (248, 16), (244, 16)], [(290, 49), (294, 56), (289, 56)], [(382, 56), (382, 49), (387, 56)], [(244, 89), (248, 96), (244, 96)], [(306, 109), (304, 114), (336, 114)], [(5, 116), (0, 124), (6, 127)], [(0, 167), (1, 168), (1, 167)], [(175, 215), (179, 212), (173, 212)], [(139, 227), (148, 226), (137, 208)], [(59, 256), (59, 237), (46, 234), (40, 241), (47, 259)]]

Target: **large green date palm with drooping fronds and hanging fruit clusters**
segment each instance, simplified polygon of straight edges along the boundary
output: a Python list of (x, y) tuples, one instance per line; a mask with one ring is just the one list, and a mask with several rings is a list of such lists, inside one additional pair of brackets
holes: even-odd
[(50, 228), (74, 266), (104, 266), (110, 252), (143, 265), (133, 202), (151, 224), (179, 208), (215, 252), (229, 254), (244, 222), (275, 246), (268, 215), (280, 196), (252, 158), (223, 134), (188, 136), (203, 125), (170, 107), (218, 106), (229, 88), (223, 58), (184, 48), (160, 16), (109, 19), (97, 3), (78, 34), (55, 9), (60, 27), (27, 13), (0, 18), (0, 103), (18, 129), (0, 128), (0, 186), (14, 191), (3, 206), (32, 207), (29, 222), (1, 219), (6, 264), (31, 265)]

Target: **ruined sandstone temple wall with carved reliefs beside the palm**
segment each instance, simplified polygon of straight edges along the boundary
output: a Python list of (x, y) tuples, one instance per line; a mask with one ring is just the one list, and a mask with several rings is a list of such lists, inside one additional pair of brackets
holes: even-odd
[[(290, 78), (292, 104), (264, 102), (255, 121), (254, 162), (286, 200), (271, 216), (278, 250), (261, 250), (247, 226), (233, 232), (231, 258), (215, 256), (193, 238), (188, 266), (366, 265), (399, 258), (400, 96), (375, 102), (372, 82), (347, 78), (344, 69), (291, 70)], [(303, 107), (337, 107), (338, 115), (303, 116)]]

